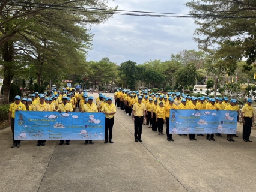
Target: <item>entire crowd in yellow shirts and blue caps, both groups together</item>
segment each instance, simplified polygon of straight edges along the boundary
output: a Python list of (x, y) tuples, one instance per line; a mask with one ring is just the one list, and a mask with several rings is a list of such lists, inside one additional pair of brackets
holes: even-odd
[[(224, 98), (209, 98), (209, 97), (190, 97), (180, 92), (165, 92), (157, 91), (157, 93), (150, 91), (127, 91), (119, 89), (114, 94), (115, 104), (112, 103), (112, 97), (106, 97), (102, 93), (96, 99), (96, 103), (93, 103), (93, 96), (88, 96), (88, 93), (84, 90), (69, 90), (60, 91), (53, 89), (53, 91), (44, 92), (39, 94), (35, 92), (29, 95), (28, 98), (20, 98), (19, 95), (15, 97), (14, 103), (10, 104), (9, 109), (9, 124), (13, 132), (13, 145), (14, 147), (20, 147), (20, 140), (14, 138), (14, 119), (16, 110), (26, 111), (51, 111), (51, 112), (102, 112), (105, 114), (105, 142), (114, 143), (112, 141), (112, 128), (114, 125), (114, 115), (116, 108), (124, 111), (126, 115), (132, 117), (134, 121), (134, 136), (135, 142), (142, 142), (142, 125), (148, 125), (152, 128), (152, 131), (158, 132), (159, 135), (164, 135), (163, 127), (166, 125), (166, 136), (168, 141), (174, 141), (172, 134), (169, 134), (169, 116), (172, 109), (195, 109), (195, 110), (233, 110), (237, 112), (237, 121), (239, 116), (243, 122), (243, 140), (245, 142), (251, 142), (249, 136), (251, 134), (252, 122), (254, 121), (253, 108), (251, 106), (252, 100), (248, 98), (245, 106), (243, 106), (240, 115), (240, 108), (237, 104), (237, 100), (228, 100)], [(179, 134), (180, 136), (187, 134)], [(203, 134), (197, 134), (197, 136), (204, 136)], [(222, 137), (217, 133), (216, 136)], [(234, 142), (233, 137), (237, 137), (236, 134), (227, 134), (227, 140)], [(206, 139), (215, 141), (214, 134), (207, 134)], [(195, 134), (189, 134), (189, 140), (195, 139)], [(46, 140), (38, 140), (37, 146), (44, 146)], [(85, 140), (85, 144), (93, 144), (93, 140)], [(59, 145), (63, 145), (64, 140), (59, 142)], [(69, 145), (70, 141), (66, 140), (66, 144)]]

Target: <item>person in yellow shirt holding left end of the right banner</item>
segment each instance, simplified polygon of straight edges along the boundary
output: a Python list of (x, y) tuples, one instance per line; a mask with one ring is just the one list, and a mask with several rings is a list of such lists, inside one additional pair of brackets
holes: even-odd
[(166, 135), (167, 140), (174, 142), (172, 139), (172, 134), (169, 134), (169, 119), (170, 119), (170, 110), (178, 109), (177, 106), (175, 106), (174, 99), (172, 97), (169, 97), (169, 103), (166, 104), (164, 110), (163, 110), (163, 122), (166, 124)]

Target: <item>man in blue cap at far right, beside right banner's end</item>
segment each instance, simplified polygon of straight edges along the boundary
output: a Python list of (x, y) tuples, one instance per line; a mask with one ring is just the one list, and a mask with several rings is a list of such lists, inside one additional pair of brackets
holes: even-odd
[(243, 141), (252, 142), (249, 139), (251, 136), (252, 122), (254, 122), (254, 109), (251, 98), (246, 100), (246, 104), (242, 108), (241, 118), (243, 122)]

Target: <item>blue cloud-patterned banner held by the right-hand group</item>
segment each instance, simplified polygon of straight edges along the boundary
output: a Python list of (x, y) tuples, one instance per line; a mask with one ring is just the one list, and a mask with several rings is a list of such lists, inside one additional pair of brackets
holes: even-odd
[(236, 134), (237, 112), (230, 110), (170, 110), (169, 133)]

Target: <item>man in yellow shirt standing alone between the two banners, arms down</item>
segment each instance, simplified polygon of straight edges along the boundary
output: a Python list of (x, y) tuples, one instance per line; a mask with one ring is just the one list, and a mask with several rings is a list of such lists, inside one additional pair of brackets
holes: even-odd
[[(142, 103), (142, 97), (138, 97), (138, 102), (133, 105), (132, 108), (132, 120), (134, 121), (134, 137), (135, 142), (142, 142), (142, 124), (146, 120), (146, 107)], [(139, 130), (139, 131), (138, 131)]]

